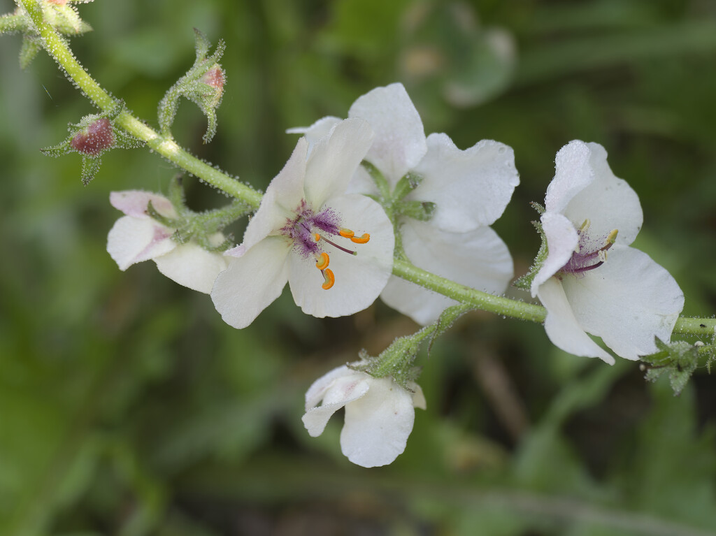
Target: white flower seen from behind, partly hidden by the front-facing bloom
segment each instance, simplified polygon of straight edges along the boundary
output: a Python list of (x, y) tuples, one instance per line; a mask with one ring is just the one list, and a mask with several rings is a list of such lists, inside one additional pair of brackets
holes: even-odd
[[(427, 222), (400, 219), (407, 257), (438, 276), (488, 293), (503, 293), (513, 276), (512, 258), (488, 225), (502, 215), (519, 183), (512, 149), (483, 140), (460, 150), (445, 134), (426, 138), (420, 114), (402, 84), (378, 87), (359, 97), (348, 115), (370, 123), (376, 136), (365, 160), (382, 172), (390, 188), (411, 172), (420, 175), (422, 182), (405, 200), (435, 203)], [(337, 121), (324, 117), (307, 129), (289, 132), (304, 132), (314, 141)], [(350, 190), (378, 193), (363, 167), (357, 170)], [(456, 303), (397, 277), (390, 278), (381, 298), (423, 325)]]

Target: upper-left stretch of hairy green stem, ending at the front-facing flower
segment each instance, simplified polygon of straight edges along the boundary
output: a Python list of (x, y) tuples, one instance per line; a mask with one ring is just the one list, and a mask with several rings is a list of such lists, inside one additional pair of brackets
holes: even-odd
[[(42, 44), (54, 60), (64, 69), (67, 76), (77, 84), (77, 87), (87, 95), (97, 107), (107, 111), (119, 104), (117, 100), (102, 89), (82, 65), (74, 59), (72, 52), (67, 47), (67, 42), (57, 34), (57, 31), (47, 24), (42, 16), (42, 8), (37, 0), (17, 0), (18, 4), (27, 11), (36, 26), (37, 32), (42, 36)], [(144, 140), (147, 145), (165, 157), (178, 167), (187, 170), (196, 175), (201, 180), (208, 182), (219, 190), (232, 195), (235, 198), (246, 201), (253, 208), (258, 208), (261, 203), (261, 193), (253, 190), (253, 188), (244, 185), (238, 180), (228, 177), (221, 171), (215, 170), (210, 165), (202, 162), (197, 157), (190, 155), (183, 150), (174, 140), (169, 137), (160, 135), (158, 132), (148, 127), (129, 112), (122, 112), (115, 121), (117, 125), (129, 132), (132, 136)]]

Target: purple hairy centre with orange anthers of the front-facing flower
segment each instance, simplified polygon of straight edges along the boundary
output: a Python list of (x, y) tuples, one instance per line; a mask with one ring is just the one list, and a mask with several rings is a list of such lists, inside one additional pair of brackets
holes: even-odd
[(286, 225), (281, 228), (281, 234), (294, 243), (294, 250), (301, 257), (313, 257), (316, 260), (316, 268), (319, 269), (324, 278), (321, 288), (328, 290), (336, 282), (333, 271), (328, 267), (331, 262), (329, 254), (324, 250), (326, 244), (332, 245), (335, 249), (357, 255), (358, 252), (351, 248), (339, 245), (334, 240), (347, 238), (353, 244), (365, 244), (370, 240), (370, 235), (364, 233), (357, 236), (354, 231), (341, 226), (341, 217), (332, 208), (324, 208), (318, 214), (309, 208), (306, 201), (301, 201), (299, 208), (296, 208), (296, 218), (286, 220)]

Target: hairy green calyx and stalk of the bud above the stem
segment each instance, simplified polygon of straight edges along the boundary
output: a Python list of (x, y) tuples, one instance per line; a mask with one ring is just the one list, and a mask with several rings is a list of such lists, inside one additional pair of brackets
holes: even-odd
[(216, 134), (216, 109), (221, 104), (226, 84), (226, 74), (219, 64), (226, 44), (220, 39), (214, 53), (207, 55), (210, 48), (208, 39), (198, 29), (194, 31), (195, 62), (191, 69), (170, 87), (159, 103), (159, 126), (163, 135), (171, 137), (171, 126), (179, 107), (179, 99), (185, 97), (194, 102), (206, 116), (208, 125), (202, 140), (208, 143)]

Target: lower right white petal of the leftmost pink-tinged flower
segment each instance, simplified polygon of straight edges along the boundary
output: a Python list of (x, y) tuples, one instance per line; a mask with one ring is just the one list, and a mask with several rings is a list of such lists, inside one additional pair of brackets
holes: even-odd
[(211, 293), (219, 272), (226, 270), (226, 258), (221, 253), (207, 251), (194, 242), (178, 245), (154, 262), (172, 281), (205, 294)]

